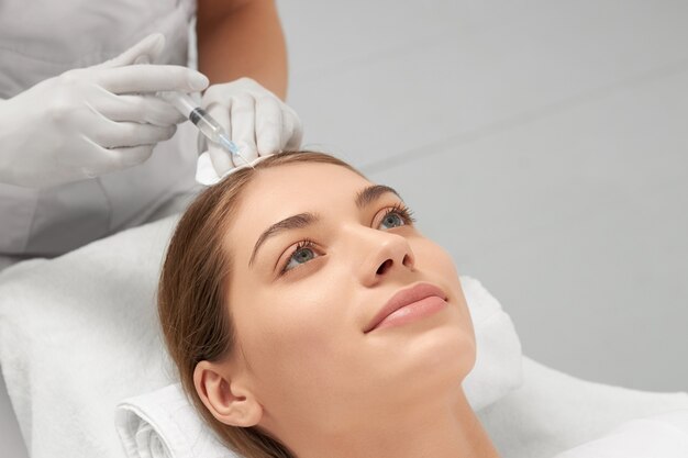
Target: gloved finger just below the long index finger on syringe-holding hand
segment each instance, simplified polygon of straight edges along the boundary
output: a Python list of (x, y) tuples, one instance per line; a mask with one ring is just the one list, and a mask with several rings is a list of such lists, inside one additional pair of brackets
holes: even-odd
[(170, 103), (153, 94), (115, 96), (109, 93), (98, 111), (112, 121), (135, 121), (162, 127), (179, 124), (186, 118)]

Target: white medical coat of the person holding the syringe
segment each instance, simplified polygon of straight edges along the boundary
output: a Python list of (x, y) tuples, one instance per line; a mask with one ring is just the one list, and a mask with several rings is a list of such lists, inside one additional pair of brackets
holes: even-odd
[[(0, 99), (73, 68), (110, 59), (160, 32), (160, 64), (187, 65), (192, 0), (2, 0)], [(55, 256), (141, 224), (190, 190), (196, 136), (189, 123), (142, 165), (44, 189), (0, 183), (0, 256)], [(2, 145), (0, 145), (0, 148)]]

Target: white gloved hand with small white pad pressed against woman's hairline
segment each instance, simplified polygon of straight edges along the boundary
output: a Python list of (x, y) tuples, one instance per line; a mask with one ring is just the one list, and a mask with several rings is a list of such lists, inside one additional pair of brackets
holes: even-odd
[[(201, 107), (225, 129), (241, 147), (241, 155), (252, 164), (301, 145), (301, 120), (297, 113), (251, 78), (212, 85), (203, 94)], [(201, 185), (214, 185), (245, 165), (217, 145), (199, 143), (207, 148), (198, 159), (196, 172)]]

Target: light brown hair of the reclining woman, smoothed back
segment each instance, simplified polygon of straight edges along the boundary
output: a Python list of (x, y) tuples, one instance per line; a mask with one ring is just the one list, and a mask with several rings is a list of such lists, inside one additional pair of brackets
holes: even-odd
[[(235, 349), (226, 292), (232, 259), (222, 238), (236, 212), (243, 190), (260, 169), (293, 163), (348, 164), (324, 153), (286, 152), (267, 157), (255, 170), (237, 170), (206, 189), (184, 213), (167, 248), (157, 292), (158, 316), (167, 349), (187, 396), (223, 443), (246, 458), (293, 458), (277, 438), (259, 427), (230, 426), (206, 407), (193, 384), (193, 370), (202, 360), (219, 361)], [(364, 177), (365, 178), (365, 177)]]

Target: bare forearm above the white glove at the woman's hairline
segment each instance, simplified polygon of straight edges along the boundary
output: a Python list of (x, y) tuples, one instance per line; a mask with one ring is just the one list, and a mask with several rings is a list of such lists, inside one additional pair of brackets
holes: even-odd
[[(198, 66), (211, 85), (249, 77), (285, 99), (287, 49), (273, 0), (198, 2)], [(237, 3), (237, 2), (235, 2)]]

